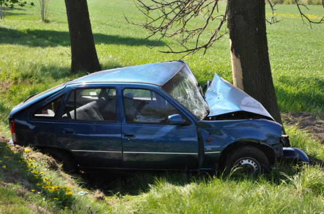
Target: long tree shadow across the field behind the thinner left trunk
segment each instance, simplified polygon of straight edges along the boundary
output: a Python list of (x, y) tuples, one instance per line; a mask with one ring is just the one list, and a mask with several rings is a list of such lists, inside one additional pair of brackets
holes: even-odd
[[(19, 44), (31, 47), (55, 47), (70, 46), (69, 32), (53, 30), (13, 30), (0, 27), (1, 44)], [(95, 44), (116, 44), (127, 46), (153, 46), (157, 40), (146, 40), (142, 38), (123, 37), (118, 35), (93, 34)], [(159, 42), (156, 46), (163, 46)]]

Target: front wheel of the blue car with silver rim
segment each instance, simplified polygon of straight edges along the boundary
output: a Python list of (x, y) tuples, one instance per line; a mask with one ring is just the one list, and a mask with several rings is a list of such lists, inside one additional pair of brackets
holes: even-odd
[(227, 159), (230, 174), (248, 177), (268, 173), (271, 169), (265, 153), (253, 146), (242, 146), (231, 152)]

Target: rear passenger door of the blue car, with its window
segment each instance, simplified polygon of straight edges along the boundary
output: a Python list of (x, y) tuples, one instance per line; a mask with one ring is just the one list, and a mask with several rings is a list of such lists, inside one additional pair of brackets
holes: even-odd
[(114, 88), (72, 89), (56, 121), (57, 145), (81, 168), (120, 168), (120, 126)]

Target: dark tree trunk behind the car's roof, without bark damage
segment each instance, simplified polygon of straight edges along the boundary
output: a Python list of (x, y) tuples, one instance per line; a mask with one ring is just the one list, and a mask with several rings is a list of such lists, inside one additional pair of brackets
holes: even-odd
[(86, 0), (65, 0), (70, 42), (71, 73), (85, 69), (87, 72), (101, 70), (93, 40), (88, 5)]

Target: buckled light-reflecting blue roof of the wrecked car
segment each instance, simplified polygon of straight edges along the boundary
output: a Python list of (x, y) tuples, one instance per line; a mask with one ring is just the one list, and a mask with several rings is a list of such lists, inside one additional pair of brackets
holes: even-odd
[(76, 83), (149, 83), (162, 86), (170, 80), (185, 65), (184, 61), (169, 61), (150, 64), (119, 67), (102, 70), (76, 80), (67, 82), (66, 85)]

